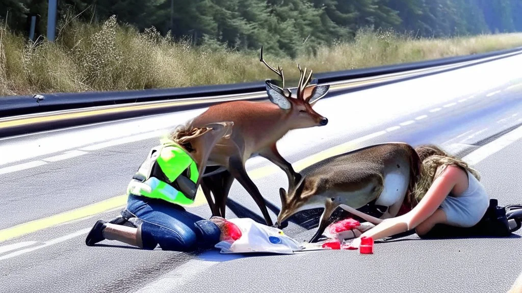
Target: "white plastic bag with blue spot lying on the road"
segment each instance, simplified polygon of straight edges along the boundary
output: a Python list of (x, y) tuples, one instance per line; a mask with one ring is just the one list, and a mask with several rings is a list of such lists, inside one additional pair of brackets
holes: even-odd
[(221, 241), (216, 248), (221, 253), (271, 252), (293, 254), (304, 248), (298, 241), (284, 235), (281, 229), (255, 222), (251, 218), (232, 218), (227, 221), (237, 225), (241, 237), (233, 243)]

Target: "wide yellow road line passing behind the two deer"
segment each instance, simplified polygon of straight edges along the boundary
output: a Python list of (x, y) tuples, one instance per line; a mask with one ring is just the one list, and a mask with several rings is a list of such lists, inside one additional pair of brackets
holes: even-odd
[[(379, 136), (382, 134), (382, 132), (375, 132), (372, 133), (372, 135), (365, 136), (359, 139), (355, 139), (343, 144), (336, 145), (332, 148), (329, 148), (327, 150), (321, 151), (319, 153), (316, 153), (314, 155), (308, 156), (303, 158), (302, 160), (295, 162), (293, 164), (294, 169), (296, 172), (299, 172), (303, 168), (310, 166), (314, 163), (317, 163), (321, 160), (324, 160), (327, 157), (331, 157), (334, 155), (338, 155), (347, 151), (350, 151), (354, 148), (354, 146), (357, 145), (357, 143), (362, 142), (364, 140)], [(252, 180), (267, 177), (269, 175), (275, 174), (276, 172), (282, 172), (281, 169), (279, 169), (275, 165), (269, 165), (261, 168), (254, 169), (250, 172), (248, 172), (248, 175), (251, 176)], [(127, 202), (127, 196), (117, 196), (113, 197), (98, 203), (90, 204), (87, 206), (79, 207), (78, 209), (56, 214), (53, 216), (36, 219), (34, 221), (30, 221), (27, 223), (23, 223), (14, 227), (6, 228), (3, 230), (0, 230), (0, 242), (13, 239), (15, 237), (19, 237), (22, 235), (26, 235), (29, 233), (33, 233), (38, 230), (50, 228), (56, 225), (60, 225), (66, 222), (74, 221), (76, 219), (100, 214), (106, 211), (110, 211), (113, 209), (116, 209), (117, 207), (124, 207)], [(207, 200), (205, 198), (205, 195), (201, 191), (201, 189), (198, 190), (196, 194), (196, 199), (193, 204), (185, 205), (186, 207), (195, 207), (195, 206), (201, 206), (207, 204)]]

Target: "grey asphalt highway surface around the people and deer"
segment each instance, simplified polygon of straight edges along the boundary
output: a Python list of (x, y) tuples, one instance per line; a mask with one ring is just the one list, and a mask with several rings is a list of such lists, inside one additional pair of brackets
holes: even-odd
[[(465, 156), (500, 205), (522, 203), (519, 68), (522, 55), (328, 96), (314, 107), (328, 125), (291, 131), (280, 152), (300, 170), (373, 143), (435, 143)], [(128, 180), (161, 131), (203, 111), (0, 140), (0, 292), (506, 292), (522, 272), (522, 230), (508, 238), (412, 235), (376, 243), (373, 255), (142, 251), (108, 240), (87, 247), (92, 225), (118, 215)], [(262, 158), (247, 168), (275, 220), (286, 177)], [(208, 218), (201, 199), (187, 210)], [(227, 217), (260, 219), (237, 181), (229, 203)], [(315, 215), (312, 223), (290, 222), (285, 233), (310, 239)]]

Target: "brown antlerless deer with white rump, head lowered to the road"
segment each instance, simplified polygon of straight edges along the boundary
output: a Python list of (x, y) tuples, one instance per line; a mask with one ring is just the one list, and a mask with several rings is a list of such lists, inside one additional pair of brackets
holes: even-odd
[[(372, 224), (395, 217), (414, 187), (420, 164), (419, 155), (406, 143), (375, 144), (326, 158), (303, 169), (301, 181), (289, 189), (288, 196), (279, 189), (282, 205), (276, 224), (297, 212), (324, 207), (317, 232), (310, 240), (315, 242), (339, 206)], [(372, 201), (387, 207), (379, 218), (357, 210)]]

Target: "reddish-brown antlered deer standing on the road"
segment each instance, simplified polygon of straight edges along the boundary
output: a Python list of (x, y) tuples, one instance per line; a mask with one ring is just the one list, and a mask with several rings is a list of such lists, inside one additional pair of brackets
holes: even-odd
[[(209, 203), (212, 215), (224, 217), (228, 193), (232, 182), (237, 179), (254, 199), (262, 211), (267, 225), (272, 226), (263, 196), (248, 177), (245, 162), (254, 156), (262, 156), (281, 168), (288, 177), (288, 186), (292, 188), (299, 181), (300, 175), (294, 172), (292, 165), (278, 152), (276, 142), (292, 129), (324, 126), (328, 119), (316, 113), (312, 106), (326, 95), (329, 85), (309, 85), (312, 70), (306, 77), (306, 68), (298, 65), (301, 77), (298, 87), (292, 91), (284, 88), (283, 70), (278, 66), (268, 65), (263, 59), (263, 47), (259, 61), (282, 80), (282, 88), (272, 80), (266, 80), (266, 91), (270, 101), (233, 101), (210, 106), (192, 121), (193, 126), (206, 125), (219, 121), (232, 121), (233, 130), (230, 139), (222, 139), (210, 151), (207, 170), (201, 189)], [(215, 202), (212, 201), (213, 193)]]

